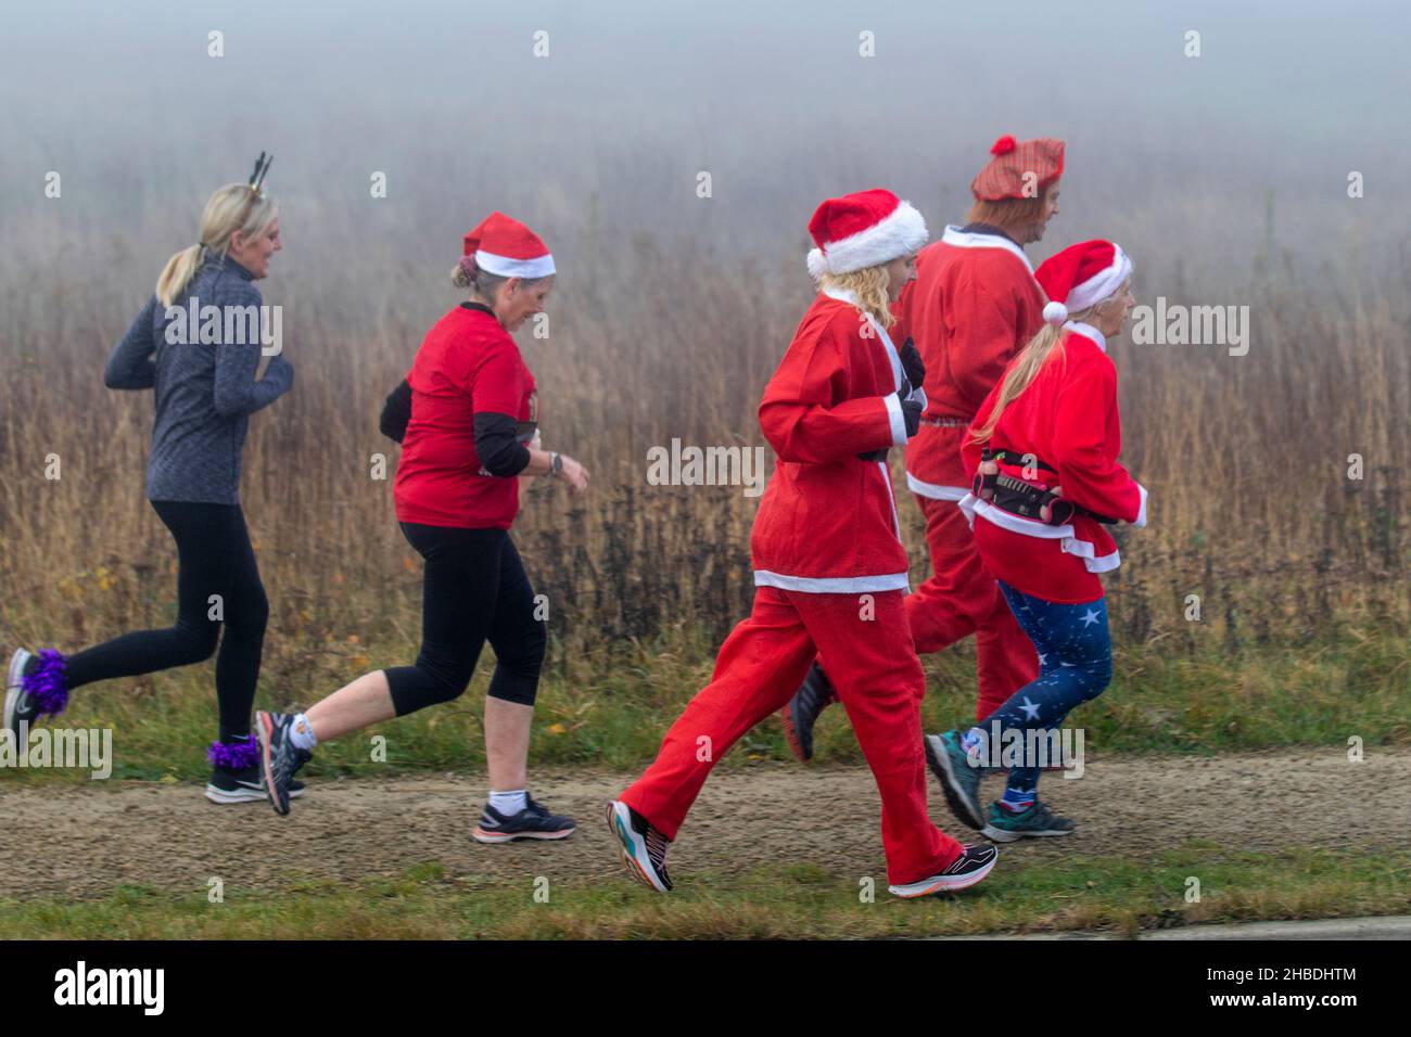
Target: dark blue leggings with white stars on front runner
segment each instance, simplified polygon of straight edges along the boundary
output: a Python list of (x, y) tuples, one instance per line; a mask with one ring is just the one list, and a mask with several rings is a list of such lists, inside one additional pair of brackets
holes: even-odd
[[(1012, 728), (1027, 732), (1057, 727), (1070, 710), (1101, 696), (1112, 680), (1106, 597), (1064, 605), (1024, 594), (1005, 581), (999, 581), (999, 590), (1020, 628), (1034, 642), (1038, 676), (979, 722), (986, 738), (992, 736), (996, 721), (1000, 736)], [(1038, 773), (1037, 766), (1013, 768), (1005, 789), (1006, 801), (1031, 801), (1037, 796)]]

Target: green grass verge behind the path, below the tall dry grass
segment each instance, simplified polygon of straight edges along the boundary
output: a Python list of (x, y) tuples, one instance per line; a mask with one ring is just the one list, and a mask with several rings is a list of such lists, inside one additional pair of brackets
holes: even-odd
[[(653, 645), (625, 645), (545, 673), (535, 715), (535, 765), (639, 769), (666, 728), (703, 687), (717, 645), (679, 631)], [(377, 663), (405, 660), (409, 643), (330, 648), (298, 660), (275, 657), (261, 677), (262, 708), (309, 705)], [(481, 708), (491, 665), (481, 663), (470, 690), (454, 703), (368, 728), (319, 749), (312, 776), (463, 770), (484, 765)], [(975, 660), (971, 645), (926, 659), (927, 729), (974, 717)], [(1246, 648), (1235, 655), (1187, 655), (1165, 642), (1118, 649), (1112, 686), (1077, 710), (1070, 725), (1085, 728), (1098, 752), (1236, 752), (1283, 745), (1345, 745), (1411, 741), (1411, 657), (1394, 633), (1339, 643)], [(206, 745), (214, 734), (212, 665), (114, 680), (78, 690), (63, 722), (113, 728), (114, 776), (196, 780), (207, 773)], [(374, 738), (385, 739), (385, 762)], [(816, 732), (821, 765), (861, 763), (842, 710), (823, 714)], [(722, 760), (790, 759), (776, 722), (749, 732)], [(11, 770), (6, 782), (86, 782), (86, 772)]]

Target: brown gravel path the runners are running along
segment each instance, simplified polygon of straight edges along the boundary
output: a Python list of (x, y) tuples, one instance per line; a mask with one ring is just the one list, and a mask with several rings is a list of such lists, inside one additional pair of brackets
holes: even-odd
[[(539, 875), (573, 882), (617, 872), (601, 815), (625, 780), (538, 772), (535, 796), (574, 815), (577, 834), (556, 844), (483, 847), (470, 839), (485, 787), (480, 773), (312, 779), (286, 818), (264, 803), (217, 807), (196, 784), (6, 789), (0, 773), (0, 896), (79, 899), (120, 885), (205, 893), (212, 876), (227, 890), (286, 890), (310, 878), (399, 876), (428, 862), (467, 882)], [(1089, 755), (1081, 780), (1044, 779), (1044, 797), (1079, 821), (1078, 832), (1005, 852), (1144, 859), (1198, 838), (1252, 851), (1404, 848), (1408, 790), (1411, 748), (1373, 748), (1362, 763), (1335, 746), (1215, 758)], [(974, 838), (934, 786), (931, 814), (951, 834)], [(714, 775), (672, 849), (673, 875), (763, 861), (885, 875), (868, 772), (770, 762)]]

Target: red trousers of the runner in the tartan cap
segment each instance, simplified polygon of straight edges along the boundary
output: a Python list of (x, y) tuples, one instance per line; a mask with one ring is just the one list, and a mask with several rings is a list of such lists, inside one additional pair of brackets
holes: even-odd
[(955, 501), (916, 499), (926, 514), (931, 552), (931, 578), (906, 600), (916, 650), (940, 652), (975, 635), (975, 718), (983, 720), (1038, 676), (1038, 655), (981, 562), (975, 533)]

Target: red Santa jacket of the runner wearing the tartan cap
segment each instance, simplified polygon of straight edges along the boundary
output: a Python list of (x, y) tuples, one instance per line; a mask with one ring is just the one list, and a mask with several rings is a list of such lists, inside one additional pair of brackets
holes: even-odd
[(968, 492), (958, 443), (1005, 365), (1043, 327), (1043, 289), (1024, 250), (999, 234), (947, 227), (916, 257), (897, 303), (897, 341), (926, 363), (926, 415), (906, 447), (906, 484), (921, 497)]

